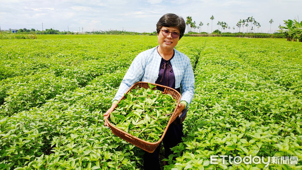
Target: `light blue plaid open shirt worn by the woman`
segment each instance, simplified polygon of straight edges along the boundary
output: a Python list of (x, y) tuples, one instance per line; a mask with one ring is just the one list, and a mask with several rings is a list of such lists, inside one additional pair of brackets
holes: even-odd
[[(187, 102), (189, 106), (195, 89), (192, 65), (185, 54), (176, 49), (174, 52), (171, 64), (175, 74), (175, 89), (181, 87), (181, 101)], [(113, 101), (119, 101), (135, 82), (155, 83), (159, 76), (161, 60), (157, 47), (139, 53), (128, 68)]]

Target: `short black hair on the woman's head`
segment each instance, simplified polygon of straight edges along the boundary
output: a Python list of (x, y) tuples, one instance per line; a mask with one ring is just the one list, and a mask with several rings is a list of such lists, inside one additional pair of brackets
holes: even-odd
[(156, 25), (157, 34), (160, 33), (162, 27), (177, 27), (180, 31), (179, 39), (181, 39), (186, 30), (186, 23), (182, 17), (176, 14), (165, 14)]

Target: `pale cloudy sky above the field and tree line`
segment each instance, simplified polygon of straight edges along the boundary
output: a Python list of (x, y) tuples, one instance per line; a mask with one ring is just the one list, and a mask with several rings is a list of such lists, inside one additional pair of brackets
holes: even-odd
[(283, 20), (302, 21), (301, 7), (302, 0), (0, 0), (0, 27), (2, 30), (42, 30), (43, 25), (43, 30), (142, 33), (154, 32), (164, 14), (174, 13), (185, 21), (188, 16), (192, 17), (197, 25), (202, 22), (200, 31), (204, 32), (218, 29), (218, 21), (226, 22), (231, 28), (228, 31), (238, 32), (238, 21), (253, 17), (261, 25), (255, 31), (268, 33), (284, 25)]

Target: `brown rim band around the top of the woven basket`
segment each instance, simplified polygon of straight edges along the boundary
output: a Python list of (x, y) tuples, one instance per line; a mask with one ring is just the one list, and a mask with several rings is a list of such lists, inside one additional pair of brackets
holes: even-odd
[[(135, 139), (135, 140), (139, 140), (139, 141), (141, 141), (141, 142), (143, 142), (143, 143), (145, 143), (145, 144), (148, 144), (148, 145), (158, 145), (158, 144), (163, 140), (163, 138), (165, 137), (165, 134), (166, 134), (166, 132), (167, 132), (167, 130), (168, 130), (170, 124), (172, 123), (172, 119), (174, 119), (174, 117), (175, 117), (176, 111), (177, 111), (177, 109), (178, 109), (178, 105), (179, 105), (179, 103), (180, 103), (181, 94), (180, 94), (178, 91), (176, 91), (175, 89), (170, 88), (170, 87), (168, 87), (168, 86), (163, 86), (163, 85), (161, 85), (161, 84), (150, 83), (150, 82), (146, 82), (146, 81), (138, 81), (138, 82), (135, 82), (135, 83), (129, 88), (129, 90), (128, 90), (125, 94), (127, 94), (130, 90), (132, 90), (134, 87), (136, 87), (137, 84), (139, 84), (139, 83), (142, 83), (142, 84), (148, 84), (148, 83), (149, 83), (149, 84), (153, 84), (153, 85), (155, 85), (155, 86), (159, 86), (159, 87), (162, 87), (162, 88), (165, 88), (165, 89), (169, 89), (169, 90), (172, 90), (172, 91), (176, 92), (176, 94), (179, 96), (179, 99), (177, 100), (177, 105), (176, 105), (176, 107), (175, 107), (175, 109), (174, 109), (173, 114), (171, 115), (171, 117), (170, 117), (170, 119), (169, 119), (169, 121), (168, 121), (168, 124), (167, 124), (167, 126), (166, 126), (166, 128), (165, 128), (164, 133), (162, 134), (161, 139), (160, 139), (159, 141), (157, 141), (157, 142), (148, 142), (148, 141), (145, 141), (145, 140), (143, 140), (143, 139), (140, 139), (140, 138), (138, 138), (138, 137), (136, 137), (136, 136), (133, 136), (133, 135), (131, 135), (131, 134), (129, 134), (129, 133), (127, 133), (127, 132), (125, 132), (125, 131), (123, 131), (123, 130), (117, 128), (116, 126), (114, 126), (114, 125), (109, 121), (109, 117), (110, 117), (111, 112), (108, 114), (107, 117), (105, 117), (105, 121), (106, 121), (106, 123), (108, 123), (108, 125), (109, 125), (110, 128), (113, 128), (113, 129), (115, 129), (115, 130), (118, 130), (119, 132), (124, 133), (124, 134), (130, 136), (131, 138), (133, 138), (133, 139)], [(165, 92), (165, 91), (164, 91), (164, 92)], [(163, 92), (163, 93), (164, 93), (164, 92)], [(118, 103), (120, 103), (120, 101), (122, 101), (122, 100), (125, 98), (125, 94), (124, 94), (123, 97), (118, 101)], [(117, 107), (117, 105), (114, 107), (114, 110), (115, 110), (116, 107)], [(114, 110), (113, 110), (113, 111), (114, 111)], [(173, 120), (173, 121), (174, 121), (174, 120)], [(127, 141), (127, 142), (129, 142), (129, 141)], [(129, 142), (129, 143), (131, 143), (131, 142)], [(133, 144), (133, 143), (131, 143), (131, 144)], [(135, 144), (133, 144), (133, 145), (135, 145)], [(136, 145), (135, 145), (135, 146), (136, 146)], [(141, 147), (139, 147), (139, 148), (141, 148)], [(141, 148), (141, 149), (145, 150), (144, 148)], [(146, 151), (148, 151), (148, 150), (146, 150)], [(149, 151), (148, 151), (148, 152), (149, 152)]]

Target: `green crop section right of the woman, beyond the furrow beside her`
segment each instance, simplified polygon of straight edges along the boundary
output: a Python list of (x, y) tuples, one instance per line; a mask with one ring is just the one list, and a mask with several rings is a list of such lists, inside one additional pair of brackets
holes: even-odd
[(302, 158), (298, 47), (267, 40), (240, 39), (236, 44), (226, 38), (203, 40), (206, 46), (195, 69), (196, 94), (185, 121), (186, 138), (174, 148), (176, 161), (171, 156), (167, 167), (301, 168), (301, 163), (223, 164), (221, 158), (218, 164), (209, 164), (211, 155), (251, 154), (266, 161), (269, 156)]

